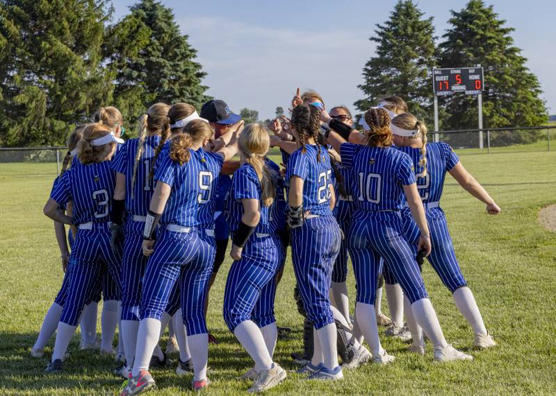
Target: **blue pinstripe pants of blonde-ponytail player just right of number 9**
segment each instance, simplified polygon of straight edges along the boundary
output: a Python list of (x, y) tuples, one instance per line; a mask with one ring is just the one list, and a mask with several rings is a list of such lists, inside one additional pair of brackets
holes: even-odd
[(253, 234), (241, 259), (231, 264), (224, 290), (224, 322), (231, 332), (245, 320), (252, 319), (259, 327), (276, 321), (274, 294), (282, 255), (277, 236)]

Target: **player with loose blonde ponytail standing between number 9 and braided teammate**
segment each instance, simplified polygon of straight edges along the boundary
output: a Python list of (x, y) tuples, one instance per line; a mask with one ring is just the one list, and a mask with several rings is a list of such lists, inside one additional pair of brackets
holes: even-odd
[[(272, 361), (277, 339), (274, 295), (283, 261), (277, 216), (276, 175), (265, 165), (270, 139), (263, 126), (248, 125), (238, 139), (241, 166), (234, 172), (225, 201), (232, 232), (231, 258), (224, 291), (224, 321), (255, 362), (244, 377), (254, 379), (250, 392), (270, 389), (286, 378)], [(256, 307), (256, 309), (255, 309)]]

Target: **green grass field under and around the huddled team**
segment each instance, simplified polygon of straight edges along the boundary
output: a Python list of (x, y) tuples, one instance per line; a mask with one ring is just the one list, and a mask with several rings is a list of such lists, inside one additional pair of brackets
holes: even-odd
[[(556, 202), (556, 153), (496, 155), (466, 153), (461, 159), (496, 199), (502, 213), (487, 216), (484, 207), (448, 177), (443, 207), (464, 275), (499, 346), (472, 350), (473, 335), (453, 304), (450, 293), (429, 265), (425, 284), (445, 337), (475, 356), (472, 362), (439, 364), (427, 355), (406, 352), (406, 345), (382, 337), (397, 359), (389, 366), (366, 365), (345, 372), (334, 384), (303, 381), (290, 375), (272, 394), (320, 395), (553, 395), (556, 394), (556, 235), (537, 222), (537, 212)], [(78, 349), (78, 336), (60, 375), (43, 375), (47, 363), (29, 355), (47, 308), (62, 279), (51, 221), (42, 215), (55, 164), (0, 164), (0, 394), (114, 395), (122, 381), (111, 374), (107, 357)], [(213, 395), (245, 394), (250, 383), (234, 379), (248, 370), (249, 356), (222, 320), (222, 295), (230, 260), (213, 287), (208, 324), (220, 339), (211, 345), (209, 365)], [(354, 279), (349, 275), (354, 298)], [(279, 285), (279, 325), (293, 327), (290, 339), (279, 341), (275, 360), (295, 367), (288, 358), (300, 350), (302, 318), (292, 291), (291, 261)], [(384, 299), (385, 300), (385, 299)], [(354, 302), (354, 300), (352, 300)], [(387, 312), (386, 305), (383, 307)], [(100, 309), (99, 309), (100, 311)], [(99, 327), (100, 329), (100, 327)], [(381, 329), (381, 332), (384, 330)], [(163, 338), (165, 344), (165, 338)], [(53, 345), (54, 341), (50, 343)], [(49, 356), (51, 349), (47, 350)], [(160, 395), (190, 392), (190, 379), (178, 379), (174, 368), (153, 370)]]

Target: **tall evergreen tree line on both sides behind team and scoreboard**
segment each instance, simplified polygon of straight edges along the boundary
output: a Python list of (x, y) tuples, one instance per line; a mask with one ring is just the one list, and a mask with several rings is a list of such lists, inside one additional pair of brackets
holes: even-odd
[[(363, 67), (363, 98), (354, 105), (363, 111), (383, 96), (400, 95), (431, 124), (432, 68), (481, 64), (486, 128), (546, 122), (539, 80), (514, 46), (514, 29), (493, 7), (471, 0), (448, 22), (439, 39), (432, 17), (412, 0), (398, 1), (370, 37), (377, 49)], [(108, 0), (1, 0), (0, 146), (63, 144), (73, 126), (102, 105), (118, 107), (130, 124), (158, 101), (200, 107), (209, 97), (196, 52), (172, 9), (159, 1), (140, 0), (114, 22)], [(475, 96), (439, 101), (441, 129), (476, 127)], [(259, 116), (241, 112), (252, 121)], [(283, 113), (277, 107), (277, 115)], [(534, 134), (493, 138), (495, 144), (524, 143)], [(450, 139), (457, 144), (466, 137)]]

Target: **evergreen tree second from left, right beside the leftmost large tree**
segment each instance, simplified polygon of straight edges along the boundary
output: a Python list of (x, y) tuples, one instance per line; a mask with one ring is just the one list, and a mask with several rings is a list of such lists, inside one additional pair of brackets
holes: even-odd
[(200, 109), (209, 97), (197, 51), (181, 35), (171, 8), (141, 0), (108, 29), (108, 65), (116, 72), (115, 105), (133, 123), (156, 103), (186, 102)]

